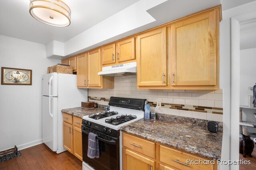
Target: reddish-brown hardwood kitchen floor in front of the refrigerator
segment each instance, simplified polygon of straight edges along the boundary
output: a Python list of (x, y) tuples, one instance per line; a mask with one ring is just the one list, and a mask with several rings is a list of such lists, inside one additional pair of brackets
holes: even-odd
[(44, 143), (20, 152), (22, 156), (0, 163), (0, 170), (82, 170), (82, 161), (70, 152), (56, 154)]

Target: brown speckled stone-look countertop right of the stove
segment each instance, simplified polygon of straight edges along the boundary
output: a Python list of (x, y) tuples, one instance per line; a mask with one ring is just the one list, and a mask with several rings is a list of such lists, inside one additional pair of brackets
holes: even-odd
[(206, 120), (157, 115), (152, 119), (141, 119), (123, 126), (120, 130), (163, 145), (198, 154), (210, 159), (220, 159), (222, 147), (222, 122), (220, 131), (211, 133)]

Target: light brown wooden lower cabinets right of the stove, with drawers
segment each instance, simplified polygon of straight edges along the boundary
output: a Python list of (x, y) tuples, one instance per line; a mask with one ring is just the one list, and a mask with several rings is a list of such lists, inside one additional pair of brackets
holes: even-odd
[[(154, 144), (154, 145), (153, 145)], [(146, 152), (146, 150), (148, 150)], [(154, 155), (150, 154), (154, 153)], [(124, 170), (217, 170), (217, 163), (191, 164), (190, 160), (211, 160), (146, 139), (123, 133)]]

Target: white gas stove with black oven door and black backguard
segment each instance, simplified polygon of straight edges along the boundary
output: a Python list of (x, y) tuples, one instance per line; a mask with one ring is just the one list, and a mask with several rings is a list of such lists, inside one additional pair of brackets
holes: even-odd
[[(143, 119), (146, 99), (110, 97), (110, 110), (86, 115), (82, 120), (83, 170), (122, 170), (122, 132), (120, 128)], [(95, 133), (106, 144), (99, 158), (88, 158), (88, 134)], [(119, 155), (116, 154), (119, 152)]]

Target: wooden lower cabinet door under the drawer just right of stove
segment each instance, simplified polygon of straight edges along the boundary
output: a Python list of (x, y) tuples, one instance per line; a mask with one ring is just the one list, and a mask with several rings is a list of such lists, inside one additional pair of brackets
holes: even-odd
[(154, 170), (155, 161), (140, 154), (123, 149), (123, 169), (124, 170)]

